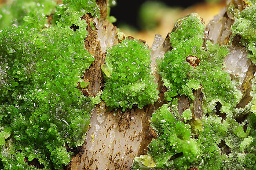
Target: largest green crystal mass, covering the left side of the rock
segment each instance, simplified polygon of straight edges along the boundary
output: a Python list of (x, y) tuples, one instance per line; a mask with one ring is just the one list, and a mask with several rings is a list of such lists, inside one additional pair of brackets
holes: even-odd
[[(81, 16), (99, 13), (95, 1), (84, 2), (58, 5), (56, 23), (46, 29), (42, 29), (46, 16), (39, 10), (36, 15), (26, 13), (20, 26), (0, 30), (0, 167), (4, 169), (62, 169), (71, 158), (65, 145), (83, 142), (94, 104), (75, 87), (94, 58), (84, 46), (87, 31)], [(72, 24), (79, 29), (74, 31)], [(29, 166), (24, 159), (41, 165)]]

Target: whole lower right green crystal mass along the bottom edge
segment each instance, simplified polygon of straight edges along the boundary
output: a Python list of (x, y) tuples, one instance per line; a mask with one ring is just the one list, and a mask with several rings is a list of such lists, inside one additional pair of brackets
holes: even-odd
[[(233, 108), (233, 115), (228, 113), (225, 120), (210, 112), (202, 119), (203, 130), (195, 135), (189, 123), (178, 119), (177, 106), (163, 105), (152, 115), (151, 125), (158, 138), (148, 146), (148, 155), (153, 158), (150, 162), (156, 167), (136, 158), (134, 169), (253, 169), (256, 116), (249, 108)], [(249, 116), (237, 123), (235, 115), (239, 114)]]

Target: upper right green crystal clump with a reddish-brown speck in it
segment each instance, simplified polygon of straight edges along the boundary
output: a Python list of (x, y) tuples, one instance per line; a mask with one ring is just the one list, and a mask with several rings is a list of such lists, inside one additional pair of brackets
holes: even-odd
[(206, 41), (203, 46), (204, 24), (196, 13), (178, 20), (170, 34), (173, 49), (165, 54), (159, 65), (164, 85), (169, 89), (167, 99), (177, 94), (194, 98), (192, 91), (202, 86), (204, 100), (236, 105), (241, 94), (222, 70), (228, 49)]

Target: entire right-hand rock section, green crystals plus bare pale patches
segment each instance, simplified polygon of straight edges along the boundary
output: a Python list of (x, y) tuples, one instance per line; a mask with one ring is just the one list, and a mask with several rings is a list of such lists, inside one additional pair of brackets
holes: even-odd
[(169, 104), (153, 113), (158, 138), (133, 169), (254, 169), (255, 1), (229, 1), (223, 16), (205, 27), (192, 13), (167, 36), (156, 62)]

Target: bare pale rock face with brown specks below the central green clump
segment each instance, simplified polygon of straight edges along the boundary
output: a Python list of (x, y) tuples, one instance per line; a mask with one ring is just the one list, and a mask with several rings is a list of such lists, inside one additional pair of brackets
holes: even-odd
[(93, 112), (83, 153), (72, 159), (70, 168), (129, 169), (133, 158), (144, 153), (144, 147), (151, 141), (148, 136), (151, 107), (121, 114), (108, 112), (101, 102)]

